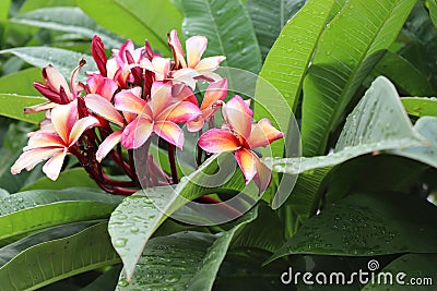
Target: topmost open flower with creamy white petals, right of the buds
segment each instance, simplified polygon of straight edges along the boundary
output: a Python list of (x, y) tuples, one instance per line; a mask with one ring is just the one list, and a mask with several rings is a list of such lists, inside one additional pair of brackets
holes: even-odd
[(192, 89), (196, 87), (196, 80), (204, 78), (208, 81), (218, 81), (222, 77), (213, 73), (226, 57), (215, 56), (202, 59), (202, 54), (208, 46), (208, 38), (204, 36), (192, 36), (186, 41), (187, 61), (182, 46), (180, 45), (177, 32), (174, 29), (168, 34), (168, 46), (173, 51), (174, 68), (172, 77), (182, 82)]

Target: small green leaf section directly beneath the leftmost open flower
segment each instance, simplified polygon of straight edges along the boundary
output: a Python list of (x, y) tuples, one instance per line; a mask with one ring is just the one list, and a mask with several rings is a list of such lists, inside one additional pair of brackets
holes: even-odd
[(20, 191), (28, 190), (62, 190), (67, 187), (91, 187), (97, 189), (97, 184), (90, 178), (83, 168), (73, 168), (62, 171), (56, 181), (43, 177), (32, 184), (25, 185)]

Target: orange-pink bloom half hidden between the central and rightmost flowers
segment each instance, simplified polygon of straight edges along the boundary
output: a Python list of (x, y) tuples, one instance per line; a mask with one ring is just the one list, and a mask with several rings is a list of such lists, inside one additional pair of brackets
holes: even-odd
[(200, 110), (202, 114), (187, 123), (187, 129), (190, 132), (198, 132), (203, 128), (204, 122), (217, 111), (220, 101), (223, 101), (227, 95), (227, 80), (211, 83), (208, 87)]

